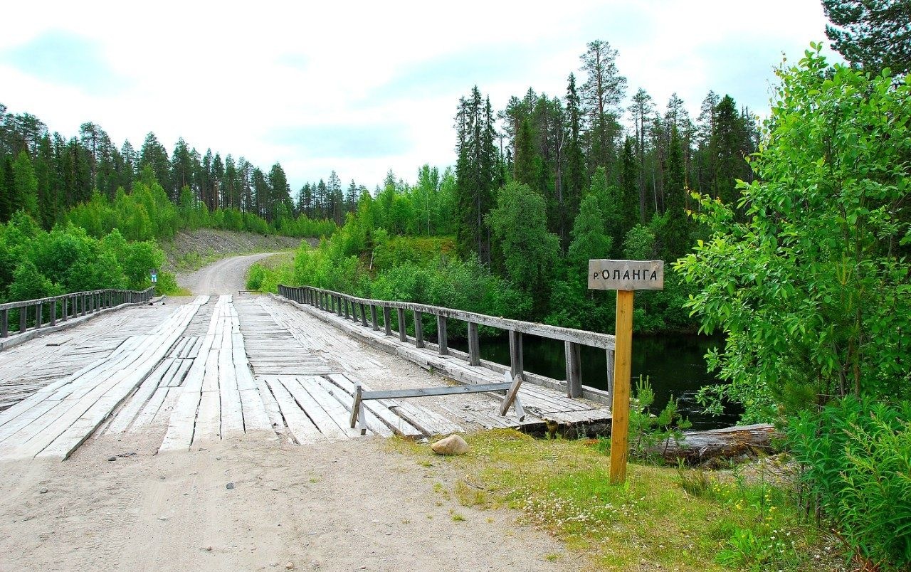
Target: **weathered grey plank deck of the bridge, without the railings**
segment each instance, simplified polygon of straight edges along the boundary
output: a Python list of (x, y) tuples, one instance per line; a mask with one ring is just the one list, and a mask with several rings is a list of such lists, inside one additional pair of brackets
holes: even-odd
[[(123, 318), (118, 323), (132, 335), (88, 336), (81, 343), (74, 342), (79, 336), (72, 332), (69, 338), (58, 336), (54, 339), (67, 344), (69, 373), (0, 411), (0, 460), (66, 458), (102, 432), (121, 439), (131, 433), (162, 434), (160, 451), (189, 450), (210, 439), (253, 431), (271, 438), (289, 434), (300, 444), (354, 438), (360, 427), (349, 426), (353, 380), (374, 380), (376, 373), (391, 376), (388, 361), (365, 354), (363, 342), (345, 331), (357, 331), (374, 346), (392, 344), (395, 354), (455, 379), (501, 381), (495, 372), (398, 342), (382, 330), (325, 312), (321, 322), (312, 312), (268, 297), (203, 296), (159, 310), (157, 322), (151, 322), (152, 312), (137, 313), (141, 330)], [(0, 375), (6, 355), (13, 354), (0, 355)], [(21, 362), (21, 356), (15, 357)], [(12, 394), (3, 391), (0, 378), (0, 400)], [(528, 412), (525, 424), (609, 417), (607, 408), (595, 409), (547, 388), (525, 384), (520, 395)], [(364, 402), (366, 429), (420, 438), (464, 432), (463, 421), (487, 427), (519, 424), (513, 415), (496, 414), (497, 396), (477, 397)]]

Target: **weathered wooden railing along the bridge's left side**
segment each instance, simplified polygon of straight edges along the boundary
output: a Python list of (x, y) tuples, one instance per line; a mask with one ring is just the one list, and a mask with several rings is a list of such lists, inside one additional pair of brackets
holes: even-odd
[[(143, 291), (135, 290), (92, 290), (71, 292), (60, 296), (39, 298), (38, 300), (10, 301), (0, 304), (0, 338), (6, 338), (10, 332), (21, 333), (28, 329), (56, 326), (56, 322), (66, 322), (70, 318), (85, 316), (113, 308), (120, 304), (149, 301), (155, 293), (155, 287)], [(10, 323), (10, 312), (18, 313), (18, 320)], [(16, 325), (10, 330), (11, 325)]]

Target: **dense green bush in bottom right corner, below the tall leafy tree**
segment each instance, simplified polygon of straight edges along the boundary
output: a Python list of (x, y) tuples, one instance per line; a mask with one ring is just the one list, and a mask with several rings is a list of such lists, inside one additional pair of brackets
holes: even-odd
[(805, 497), (869, 566), (911, 566), (911, 402), (846, 397), (787, 429)]

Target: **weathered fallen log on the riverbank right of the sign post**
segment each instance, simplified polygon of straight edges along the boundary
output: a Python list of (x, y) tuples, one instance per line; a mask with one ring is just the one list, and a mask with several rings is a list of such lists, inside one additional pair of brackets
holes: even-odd
[(740, 455), (769, 453), (773, 437), (780, 434), (769, 424), (740, 425), (711, 431), (684, 433), (680, 443), (661, 443), (654, 448), (669, 463), (679, 460), (689, 465), (704, 463), (715, 457), (731, 458)]

